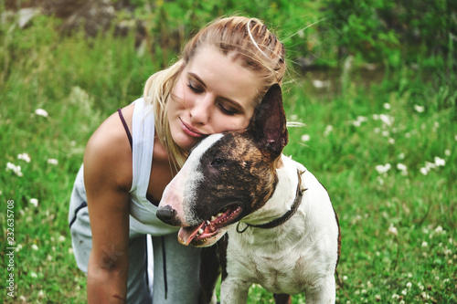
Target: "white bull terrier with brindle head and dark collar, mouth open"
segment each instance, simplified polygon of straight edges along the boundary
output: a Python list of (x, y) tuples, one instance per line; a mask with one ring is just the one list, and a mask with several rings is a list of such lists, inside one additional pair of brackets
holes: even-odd
[[(338, 219), (324, 186), (282, 154), (287, 142), (282, 92), (273, 85), (246, 130), (207, 136), (165, 188), (156, 215), (181, 226), (180, 243), (207, 247), (224, 236), (211, 247), (222, 266), (221, 303), (246, 303), (253, 283), (276, 303), (303, 292), (306, 303), (335, 302)], [(212, 280), (201, 301), (214, 303), (218, 277), (200, 275)]]

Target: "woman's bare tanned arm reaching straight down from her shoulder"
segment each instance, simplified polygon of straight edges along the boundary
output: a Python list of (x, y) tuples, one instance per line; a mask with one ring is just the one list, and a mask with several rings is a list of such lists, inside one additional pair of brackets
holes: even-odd
[(112, 116), (101, 125), (84, 153), (84, 183), (92, 231), (87, 278), (89, 303), (124, 303), (127, 298), (132, 155), (116, 119)]

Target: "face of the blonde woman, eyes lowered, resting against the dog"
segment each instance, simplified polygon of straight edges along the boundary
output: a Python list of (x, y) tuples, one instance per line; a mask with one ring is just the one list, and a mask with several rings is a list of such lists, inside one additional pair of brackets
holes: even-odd
[(173, 140), (190, 150), (208, 134), (245, 129), (260, 79), (215, 47), (197, 50), (176, 79), (167, 102)]

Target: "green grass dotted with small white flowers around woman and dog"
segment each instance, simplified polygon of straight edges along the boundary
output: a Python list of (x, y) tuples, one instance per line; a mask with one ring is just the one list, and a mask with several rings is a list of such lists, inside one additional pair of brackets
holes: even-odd
[[(24, 30), (10, 26), (2, 25), (0, 45), (0, 257), (6, 266), (13, 200), (15, 298), (6, 295), (2, 267), (0, 299), (83, 303), (86, 280), (68, 229), (72, 183), (91, 132), (140, 96), (159, 64), (136, 53), (133, 37), (63, 38), (45, 17)], [(327, 89), (315, 89), (306, 74), (284, 93), (288, 118), (305, 123), (290, 129), (285, 153), (324, 183), (339, 215), (338, 303), (457, 302), (457, 77), (449, 61), (434, 70), (377, 71), (384, 74), (370, 85), (353, 70)], [(18, 159), (22, 153), (30, 162)], [(445, 164), (424, 174), (435, 160)], [(22, 176), (7, 171), (8, 162)], [(388, 172), (378, 173), (386, 164)], [(251, 288), (250, 303), (271, 301)]]

